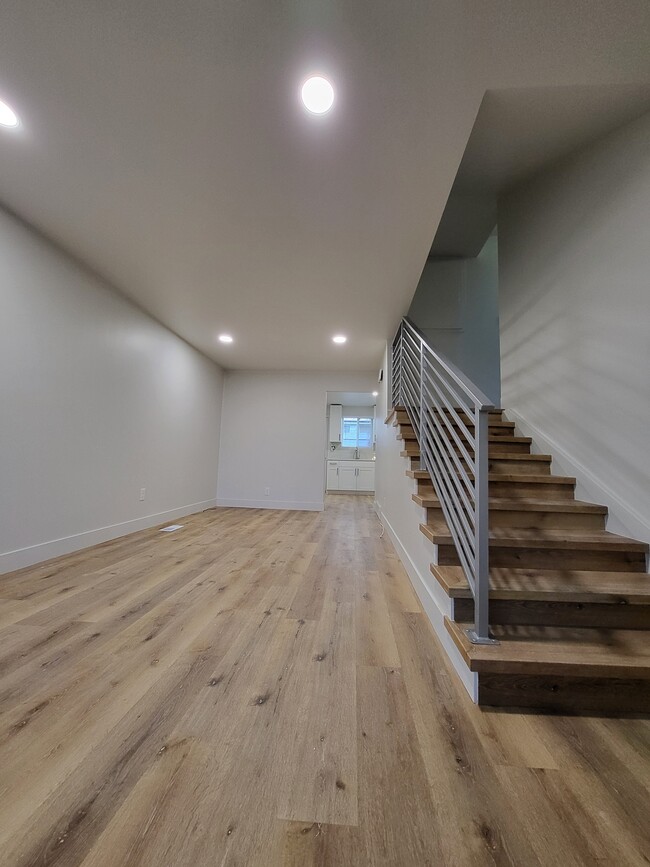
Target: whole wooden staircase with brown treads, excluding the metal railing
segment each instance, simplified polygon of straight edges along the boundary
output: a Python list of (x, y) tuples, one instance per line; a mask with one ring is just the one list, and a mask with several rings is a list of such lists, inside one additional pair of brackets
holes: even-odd
[[(472, 417), (451, 421), (451, 447), (472, 477)], [(575, 499), (575, 479), (551, 474), (502, 410), (487, 431), (489, 624), (495, 644), (472, 643), (474, 593), (430, 473), (421, 468), (418, 419), (395, 406), (396, 428), (421, 532), (434, 546), (433, 578), (450, 600), (445, 626), (478, 674), (481, 705), (562, 712), (650, 712), (648, 545), (609, 533), (607, 508)], [(468, 433), (468, 431), (470, 433)], [(461, 447), (462, 446), (462, 447)]]

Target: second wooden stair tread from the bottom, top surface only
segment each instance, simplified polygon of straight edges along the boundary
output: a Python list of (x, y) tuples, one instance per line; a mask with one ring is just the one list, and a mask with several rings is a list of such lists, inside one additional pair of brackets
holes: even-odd
[[(450, 598), (472, 598), (462, 567), (432, 564), (429, 568)], [(650, 575), (643, 572), (496, 567), (490, 569), (490, 598), (650, 605)]]

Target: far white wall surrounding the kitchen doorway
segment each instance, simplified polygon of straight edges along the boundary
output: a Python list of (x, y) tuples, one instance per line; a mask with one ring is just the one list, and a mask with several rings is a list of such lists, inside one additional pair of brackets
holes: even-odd
[(327, 392), (376, 387), (374, 371), (228, 371), (217, 504), (322, 509)]

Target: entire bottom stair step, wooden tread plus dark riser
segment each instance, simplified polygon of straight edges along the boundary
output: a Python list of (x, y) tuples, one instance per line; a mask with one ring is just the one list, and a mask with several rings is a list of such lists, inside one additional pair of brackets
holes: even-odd
[(468, 625), (445, 618), (482, 706), (650, 712), (648, 631), (497, 625), (498, 645), (474, 645)]

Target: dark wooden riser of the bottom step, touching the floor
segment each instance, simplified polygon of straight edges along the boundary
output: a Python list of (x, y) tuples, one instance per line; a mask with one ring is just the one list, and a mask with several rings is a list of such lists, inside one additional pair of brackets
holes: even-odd
[(650, 684), (647, 680), (613, 677), (481, 673), (478, 701), (482, 707), (527, 707), (614, 716), (645, 714), (650, 713)]

